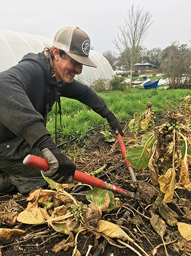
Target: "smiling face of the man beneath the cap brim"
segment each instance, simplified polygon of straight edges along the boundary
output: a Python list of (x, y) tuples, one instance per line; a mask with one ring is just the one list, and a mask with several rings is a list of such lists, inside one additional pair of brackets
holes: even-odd
[(73, 82), (75, 75), (79, 75), (83, 67), (82, 64), (71, 59), (67, 54), (63, 56), (55, 55), (54, 64), (56, 81), (64, 81), (66, 83)]

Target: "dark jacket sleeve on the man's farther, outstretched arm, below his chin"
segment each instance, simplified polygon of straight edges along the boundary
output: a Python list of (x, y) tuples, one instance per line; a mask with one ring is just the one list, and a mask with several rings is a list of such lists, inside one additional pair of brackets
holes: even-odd
[(86, 104), (103, 118), (111, 112), (105, 101), (97, 93), (95, 93), (90, 87), (76, 81), (75, 79), (72, 83), (63, 84), (61, 87), (61, 96), (75, 99)]

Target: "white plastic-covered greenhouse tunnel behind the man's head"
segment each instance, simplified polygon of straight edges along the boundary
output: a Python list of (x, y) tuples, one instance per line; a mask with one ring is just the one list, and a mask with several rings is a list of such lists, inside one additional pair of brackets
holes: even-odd
[[(51, 46), (52, 41), (43, 36), (0, 29), (0, 72), (16, 65), (23, 55), (30, 52), (39, 53), (45, 47)], [(83, 66), (82, 73), (76, 77), (77, 80), (90, 86), (98, 78), (111, 79), (114, 70), (102, 54), (90, 50), (89, 58), (97, 67)]]

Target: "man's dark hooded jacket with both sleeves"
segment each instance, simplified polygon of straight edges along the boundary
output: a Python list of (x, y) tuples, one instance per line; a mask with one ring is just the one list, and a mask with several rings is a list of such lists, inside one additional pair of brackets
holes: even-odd
[(111, 112), (91, 88), (76, 80), (57, 83), (43, 53), (29, 53), (14, 67), (0, 73), (0, 143), (21, 136), (29, 145), (45, 134), (44, 118), (61, 96), (79, 100), (105, 117)]

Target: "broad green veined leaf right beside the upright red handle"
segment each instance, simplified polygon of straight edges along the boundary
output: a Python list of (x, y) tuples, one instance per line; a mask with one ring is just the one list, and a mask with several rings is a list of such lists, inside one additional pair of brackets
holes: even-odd
[(150, 157), (148, 157), (147, 149), (151, 149), (154, 144), (154, 135), (146, 141), (145, 145), (134, 145), (127, 148), (126, 159), (135, 169), (146, 168)]

